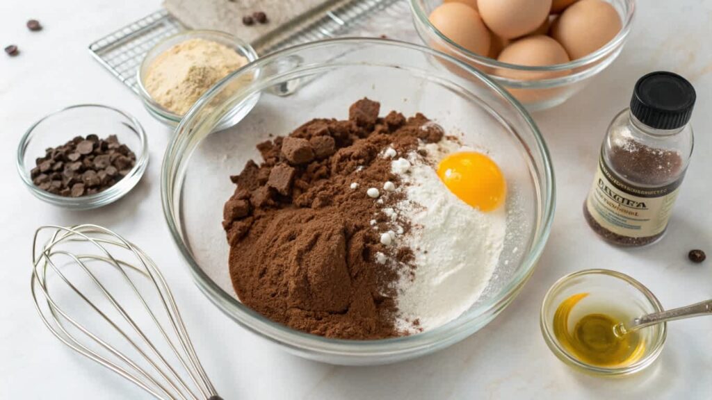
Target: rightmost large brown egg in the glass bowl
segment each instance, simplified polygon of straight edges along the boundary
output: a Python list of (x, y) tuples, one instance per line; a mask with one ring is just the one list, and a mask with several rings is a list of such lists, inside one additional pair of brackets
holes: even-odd
[(613, 6), (602, 0), (580, 0), (553, 23), (551, 36), (576, 60), (605, 46), (621, 28)]

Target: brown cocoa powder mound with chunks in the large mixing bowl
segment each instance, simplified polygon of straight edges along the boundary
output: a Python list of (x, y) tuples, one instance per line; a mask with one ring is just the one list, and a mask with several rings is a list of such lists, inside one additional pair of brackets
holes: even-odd
[[(407, 265), (412, 252), (383, 246), (382, 230), (370, 224), (376, 219), (385, 227), (389, 219), (380, 210), (399, 195), (382, 194), (379, 204), (366, 191), (399, 183), (384, 149), (406, 154), (419, 140), (439, 141), (442, 132), (425, 125), (421, 114), (378, 115), (379, 103), (362, 99), (350, 107), (348, 120), (311, 120), (259, 144), (263, 162), (250, 161), (231, 177), (237, 187), (225, 204), (223, 226), (232, 283), (245, 305), (314, 335), (404, 335), (394, 326), (394, 283), (396, 264)], [(377, 252), (398, 263), (377, 263)]]

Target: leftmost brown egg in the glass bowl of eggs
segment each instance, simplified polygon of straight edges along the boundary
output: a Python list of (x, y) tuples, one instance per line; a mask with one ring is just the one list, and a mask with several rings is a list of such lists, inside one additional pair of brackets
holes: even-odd
[(441, 4), (430, 13), (430, 23), (451, 41), (481, 56), (487, 56), (490, 33), (480, 15), (465, 4)]

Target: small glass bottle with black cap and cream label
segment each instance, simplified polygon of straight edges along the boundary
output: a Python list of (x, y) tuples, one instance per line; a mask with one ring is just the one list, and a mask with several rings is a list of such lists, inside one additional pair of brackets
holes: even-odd
[(670, 72), (644, 75), (630, 108), (608, 128), (583, 212), (591, 228), (620, 246), (643, 246), (668, 226), (693, 148), (696, 93)]

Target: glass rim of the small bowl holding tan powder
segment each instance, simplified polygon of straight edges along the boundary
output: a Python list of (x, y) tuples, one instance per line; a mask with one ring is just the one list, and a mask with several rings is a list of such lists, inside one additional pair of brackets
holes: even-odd
[[(237, 70), (241, 70), (242, 68), (245, 68), (247, 65), (250, 65), (250, 63), (256, 59), (259, 58), (257, 55), (257, 52), (255, 49), (252, 47), (250, 43), (247, 43), (246, 41), (243, 41), (241, 38), (238, 38), (237, 36), (234, 36), (230, 33), (223, 32), (223, 31), (214, 31), (212, 29), (189, 29), (187, 31), (180, 31), (178, 33), (174, 33), (171, 36), (167, 36), (166, 38), (161, 39), (156, 43), (154, 46), (152, 46), (143, 56), (141, 63), (139, 64), (138, 68), (136, 69), (136, 83), (138, 87), (138, 92), (139, 95), (141, 96), (141, 99), (143, 100), (144, 104), (147, 105), (149, 111), (154, 115), (155, 117), (159, 117), (159, 119), (163, 118), (169, 122), (172, 122), (172, 124), (176, 125), (178, 122), (182, 120), (182, 118), (185, 117), (185, 115), (188, 115), (188, 112), (185, 113), (185, 115), (177, 115), (174, 112), (171, 112), (169, 110), (166, 110), (162, 105), (158, 104), (156, 100), (153, 99), (153, 97), (148, 93), (148, 90), (146, 90), (145, 86), (143, 85), (144, 81), (144, 74), (143, 70), (145, 69), (144, 67), (147, 66), (146, 63), (148, 62), (148, 59), (152, 53), (157, 51), (157, 48), (160, 46), (163, 46), (165, 43), (168, 43), (169, 41), (174, 41), (178, 38), (184, 38), (184, 41), (189, 40), (193, 36), (200, 36), (200, 35), (206, 35), (206, 36), (219, 36), (221, 38), (224, 38), (226, 40), (231, 41), (234, 43), (235, 46), (234, 48), (241, 48), (244, 49), (244, 55), (239, 52), (240, 56), (244, 56), (247, 58), (247, 63), (243, 65), (242, 67), (238, 68)], [(177, 43), (176, 43), (177, 44)], [(164, 50), (165, 51), (165, 50)], [(237, 71), (236, 70), (236, 71)], [(235, 72), (235, 71), (234, 71)], [(232, 73), (227, 75), (225, 78), (228, 78), (231, 76)], [(219, 83), (221, 83), (222, 79), (219, 80), (213, 87), (217, 86)]]

